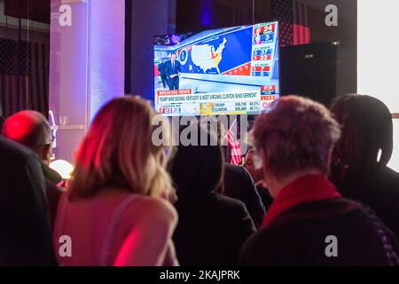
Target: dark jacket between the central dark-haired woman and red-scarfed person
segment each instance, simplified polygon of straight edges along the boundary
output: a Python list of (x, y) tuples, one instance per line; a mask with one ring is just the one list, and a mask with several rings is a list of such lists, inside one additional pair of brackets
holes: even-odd
[(224, 195), (246, 204), (246, 209), (254, 219), (254, 225), (259, 227), (262, 224), (265, 209), (249, 172), (244, 167), (225, 163), (223, 186)]

